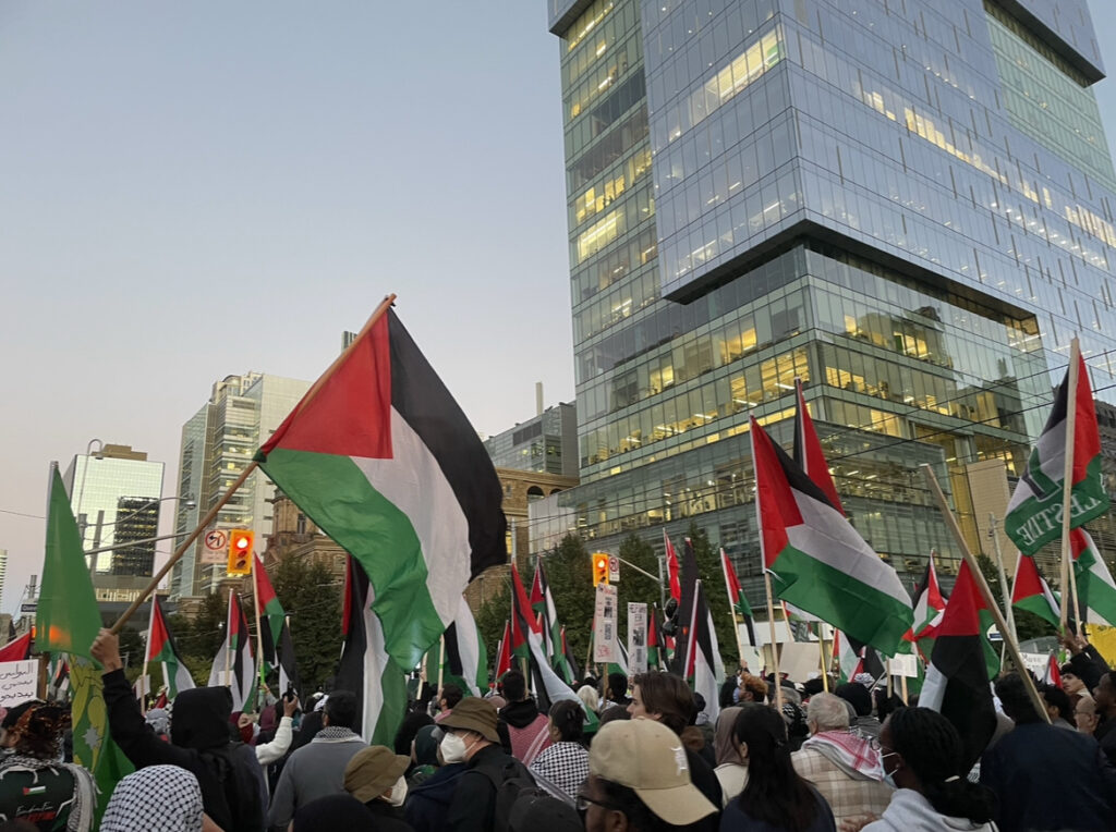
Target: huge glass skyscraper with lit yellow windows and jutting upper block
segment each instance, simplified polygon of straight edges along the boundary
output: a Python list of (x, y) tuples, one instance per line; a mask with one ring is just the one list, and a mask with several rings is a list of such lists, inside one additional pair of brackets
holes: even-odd
[(800, 377), (882, 557), (956, 554), (921, 463), (982, 548), (965, 466), (1018, 475), (1074, 335), (1112, 398), (1085, 0), (549, 0), (549, 23), (583, 485), (540, 524), (695, 521), (757, 575), (748, 417), (789, 443)]

